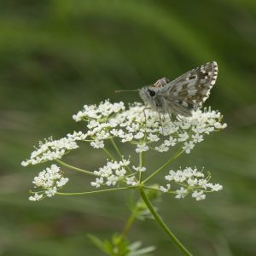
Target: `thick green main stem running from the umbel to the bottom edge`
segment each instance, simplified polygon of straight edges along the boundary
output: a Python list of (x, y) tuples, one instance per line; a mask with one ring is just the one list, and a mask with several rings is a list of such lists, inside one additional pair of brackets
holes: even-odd
[(143, 188), (140, 189), (140, 193), (143, 198), (143, 201), (148, 207), (148, 210), (152, 213), (152, 215), (154, 216), (154, 219), (160, 225), (160, 227), (166, 232), (167, 236), (169, 236), (170, 239), (177, 245), (177, 247), (180, 248), (180, 250), (183, 252), (184, 255), (192, 256), (192, 254), (189, 253), (189, 251), (183, 246), (183, 244), (180, 241), (178, 241), (177, 237), (174, 236), (172, 231), (169, 230), (169, 228), (166, 226), (162, 218), (160, 218), (159, 214), (154, 210), (154, 207), (151, 205), (151, 202), (148, 200), (148, 196), (144, 192)]

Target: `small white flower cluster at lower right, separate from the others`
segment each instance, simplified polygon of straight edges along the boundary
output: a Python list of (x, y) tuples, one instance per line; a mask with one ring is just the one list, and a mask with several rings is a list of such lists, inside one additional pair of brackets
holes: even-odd
[[(197, 168), (186, 167), (184, 170), (177, 170), (176, 172), (171, 170), (169, 175), (166, 175), (166, 180), (169, 182), (177, 183), (181, 186), (175, 191), (175, 198), (184, 198), (189, 193), (192, 193), (192, 197), (196, 201), (201, 201), (206, 198), (204, 193), (219, 191), (223, 189), (223, 186), (216, 183), (209, 183), (210, 177), (205, 177), (203, 172), (199, 172)], [(171, 184), (167, 183), (166, 187), (160, 186), (160, 190), (164, 193), (170, 191)]]

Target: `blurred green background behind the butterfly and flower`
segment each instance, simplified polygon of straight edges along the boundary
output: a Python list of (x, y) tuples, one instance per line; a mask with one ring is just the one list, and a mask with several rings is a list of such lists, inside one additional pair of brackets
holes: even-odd
[[(256, 255), (255, 15), (255, 0), (1, 0), (0, 255), (102, 255), (86, 234), (122, 230), (136, 195), (30, 202), (32, 178), (49, 164), (21, 160), (44, 137), (83, 129), (72, 115), (84, 104), (140, 101), (113, 90), (175, 79), (207, 61), (218, 61), (219, 75), (205, 105), (229, 126), (174, 166), (206, 166), (224, 190), (202, 202), (165, 195), (158, 207), (194, 255)], [(151, 165), (168, 155), (151, 154)], [(65, 160), (95, 170), (104, 157), (83, 145)], [(67, 174), (69, 191), (89, 189), (90, 179)], [(137, 221), (129, 237), (155, 245), (154, 255), (181, 255), (153, 220)]]

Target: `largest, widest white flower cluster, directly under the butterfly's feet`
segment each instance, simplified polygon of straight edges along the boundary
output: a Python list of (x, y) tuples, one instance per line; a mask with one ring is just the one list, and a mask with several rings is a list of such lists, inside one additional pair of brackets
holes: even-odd
[(226, 127), (226, 124), (221, 124), (221, 113), (211, 109), (198, 109), (191, 117), (178, 117), (176, 120), (171, 120), (166, 114), (160, 121), (159, 113), (144, 109), (141, 103), (125, 110), (123, 102), (112, 104), (108, 101), (98, 107), (85, 105), (73, 119), (88, 122), (86, 135), (92, 140), (90, 145), (93, 148), (103, 148), (105, 139), (118, 137), (122, 143), (137, 145), (137, 153), (149, 148), (166, 152), (181, 143), (189, 154), (196, 143), (203, 141), (204, 135)]

